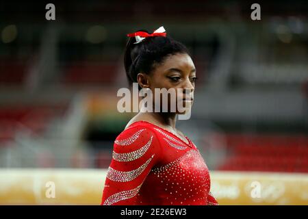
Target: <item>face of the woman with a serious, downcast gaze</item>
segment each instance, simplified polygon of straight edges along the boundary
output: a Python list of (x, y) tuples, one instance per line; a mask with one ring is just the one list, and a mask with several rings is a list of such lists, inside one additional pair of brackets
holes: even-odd
[[(171, 104), (176, 106), (177, 114), (184, 114), (187, 110), (190, 110), (196, 80), (196, 68), (190, 55), (177, 53), (168, 56), (162, 64), (155, 67), (155, 70), (150, 75), (147, 75), (147, 78), (149, 79), (149, 88), (154, 95), (153, 104), (157, 105), (155, 103), (155, 88), (166, 88), (166, 90), (171, 88), (170, 90), (175, 90), (175, 96), (168, 96), (168, 112), (170, 112)], [(163, 104), (162, 94), (160, 100), (160, 104)], [(183, 107), (179, 107), (177, 100), (181, 102), (179, 104)]]

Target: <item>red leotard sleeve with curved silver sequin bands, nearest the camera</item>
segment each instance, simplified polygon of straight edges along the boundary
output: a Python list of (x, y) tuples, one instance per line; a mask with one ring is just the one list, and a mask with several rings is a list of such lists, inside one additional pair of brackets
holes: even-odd
[(101, 205), (136, 205), (142, 183), (159, 160), (160, 144), (151, 129), (125, 129), (114, 142)]

